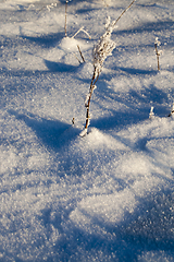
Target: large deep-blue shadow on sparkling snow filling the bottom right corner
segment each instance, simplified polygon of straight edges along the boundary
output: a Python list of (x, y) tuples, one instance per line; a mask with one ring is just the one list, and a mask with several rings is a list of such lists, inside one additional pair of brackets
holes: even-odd
[[(90, 233), (86, 227), (83, 229), (73, 222), (70, 225), (72, 207), (60, 206), (54, 212), (54, 219), (51, 218), (52, 206), (46, 207), (39, 219), (46, 227), (48, 239), (51, 236), (51, 225), (61, 234), (47, 261), (82, 261), (86, 254), (89, 255), (87, 261), (96, 255), (97, 261), (138, 262), (146, 252), (159, 252), (160, 255), (166, 252), (166, 255), (174, 255), (174, 216), (171, 209), (174, 204), (173, 196), (172, 191), (161, 190), (139, 198), (139, 204), (134, 212), (125, 212), (125, 219), (117, 224), (80, 209), (92, 225)], [(62, 226), (66, 222), (69, 230)], [(98, 231), (97, 228), (101, 230)], [(101, 258), (98, 257), (100, 254)]]

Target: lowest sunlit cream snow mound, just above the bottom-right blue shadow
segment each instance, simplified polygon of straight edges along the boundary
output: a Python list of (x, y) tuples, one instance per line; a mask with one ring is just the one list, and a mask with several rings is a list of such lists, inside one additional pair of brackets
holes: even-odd
[(103, 223), (115, 226), (125, 219), (127, 213), (133, 213), (135, 206), (134, 193), (125, 189), (110, 195), (102, 194), (84, 199), (71, 213), (70, 218), (77, 227), (91, 231), (97, 226), (102, 227)]

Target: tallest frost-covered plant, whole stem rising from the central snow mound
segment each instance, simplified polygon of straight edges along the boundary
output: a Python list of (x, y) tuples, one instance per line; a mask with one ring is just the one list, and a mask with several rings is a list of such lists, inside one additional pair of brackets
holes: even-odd
[(85, 129), (80, 132), (80, 136), (84, 136), (87, 134), (88, 127), (90, 123), (90, 116), (89, 116), (89, 106), (90, 106), (90, 99), (91, 95), (94, 93), (94, 90), (97, 87), (96, 83), (99, 79), (99, 75), (103, 69), (103, 62), (108, 56), (112, 56), (112, 50), (115, 48), (115, 43), (111, 39), (111, 34), (113, 29), (115, 28), (115, 24), (117, 21), (122, 17), (122, 15), (132, 7), (132, 4), (136, 0), (133, 0), (132, 3), (121, 13), (117, 20), (111, 22), (110, 16), (107, 19), (105, 23), (105, 33), (100, 37), (97, 45), (94, 46), (92, 50), (92, 64), (94, 64), (94, 74), (90, 82), (89, 93), (86, 96), (85, 100), (85, 107), (86, 107), (86, 123)]

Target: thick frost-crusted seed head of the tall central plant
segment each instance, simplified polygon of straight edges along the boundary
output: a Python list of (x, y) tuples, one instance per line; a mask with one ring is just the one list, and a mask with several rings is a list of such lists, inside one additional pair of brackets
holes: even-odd
[(110, 16), (105, 23), (105, 33), (100, 37), (98, 44), (94, 47), (92, 58), (96, 75), (102, 71), (102, 66), (108, 56), (112, 56), (112, 50), (115, 48), (115, 43), (111, 40), (111, 34), (114, 29), (115, 21), (111, 23)]

